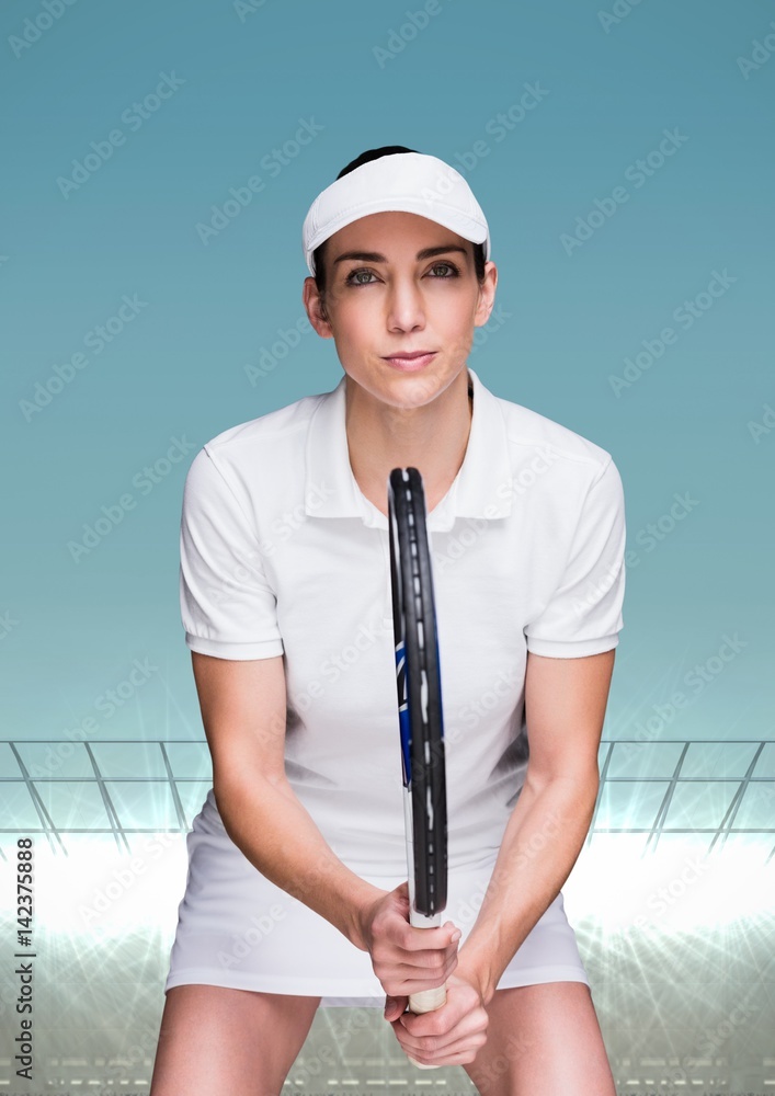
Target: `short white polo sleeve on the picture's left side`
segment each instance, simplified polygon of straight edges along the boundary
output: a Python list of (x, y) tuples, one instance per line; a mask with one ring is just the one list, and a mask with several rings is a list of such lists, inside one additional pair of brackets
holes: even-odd
[(206, 447), (183, 489), (180, 604), (192, 651), (237, 660), (284, 652), (257, 534)]

